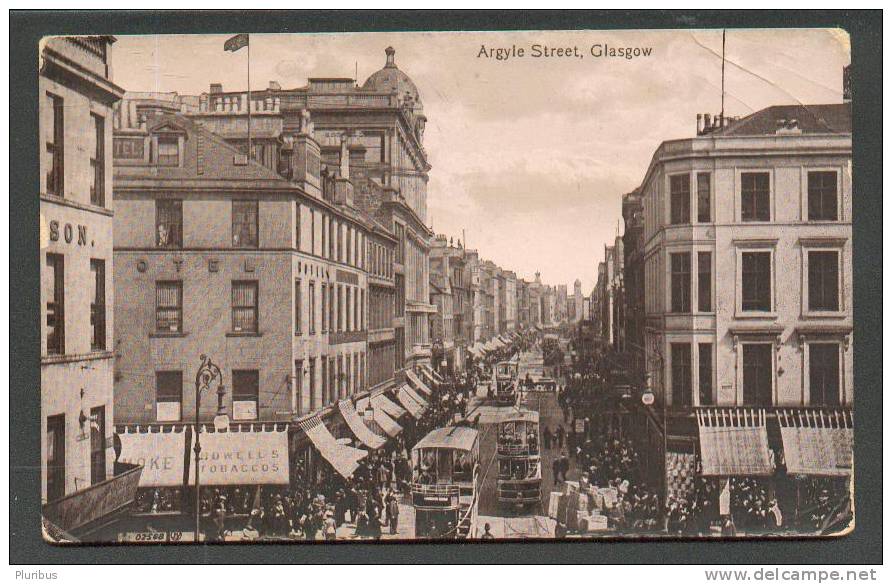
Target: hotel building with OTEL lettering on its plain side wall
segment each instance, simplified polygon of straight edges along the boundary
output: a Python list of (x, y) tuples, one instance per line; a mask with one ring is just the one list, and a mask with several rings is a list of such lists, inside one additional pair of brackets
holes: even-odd
[[(236, 422), (288, 422), (365, 390), (372, 226), (349, 170), (323, 181), (298, 132), (289, 174), (321, 186), (302, 188), (206, 121), (136, 101), (115, 119), (115, 294), (128, 307), (116, 423), (194, 419), (202, 355)], [(216, 409), (205, 400), (199, 418)]]

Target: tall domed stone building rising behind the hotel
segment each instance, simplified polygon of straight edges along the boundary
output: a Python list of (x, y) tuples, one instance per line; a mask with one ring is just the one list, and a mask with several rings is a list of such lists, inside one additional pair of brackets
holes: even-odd
[[(428, 257), (432, 233), (427, 221), (427, 182), (430, 165), (424, 149), (427, 118), (415, 83), (395, 61), (388, 47), (382, 69), (359, 86), (354, 79), (312, 78), (298, 88), (275, 81), (253, 91), (252, 151), (256, 160), (285, 166), (283, 150), (302, 124), (312, 120), (323, 169), (336, 174), (349, 162), (355, 204), (385, 226), (397, 239), (394, 257), (394, 337), (397, 370), (430, 363), (430, 304)], [(247, 138), (247, 94), (224, 92), (211, 84), (198, 96), (196, 117), (219, 120), (214, 129), (228, 141)], [(276, 116), (264, 117), (270, 111)], [(275, 118), (281, 118), (280, 122)], [(267, 120), (263, 124), (257, 120)], [(258, 124), (254, 127), (254, 124)], [(277, 125), (281, 124), (281, 133)], [(314, 153), (315, 154), (315, 153)], [(315, 164), (315, 157), (311, 155)], [(289, 177), (290, 178), (290, 177)]]

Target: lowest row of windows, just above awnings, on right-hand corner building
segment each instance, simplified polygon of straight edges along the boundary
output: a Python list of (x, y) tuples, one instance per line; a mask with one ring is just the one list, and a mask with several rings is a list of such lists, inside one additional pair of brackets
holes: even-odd
[[(671, 343), (672, 404), (679, 407), (715, 405), (712, 343)], [(698, 383), (692, 382), (692, 351), (697, 351)], [(808, 405), (840, 404), (840, 355), (838, 342), (808, 343)], [(741, 343), (742, 405), (775, 403), (774, 345)], [(695, 401), (696, 393), (696, 401)]]

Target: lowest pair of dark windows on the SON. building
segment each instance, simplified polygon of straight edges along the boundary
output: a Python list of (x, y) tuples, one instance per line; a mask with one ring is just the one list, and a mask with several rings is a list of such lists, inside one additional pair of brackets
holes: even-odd
[[(75, 423), (80, 423), (75, 421)], [(106, 477), (106, 418), (105, 406), (90, 408), (90, 484), (95, 485)], [(55, 501), (65, 496), (65, 414), (46, 419), (46, 498)]]

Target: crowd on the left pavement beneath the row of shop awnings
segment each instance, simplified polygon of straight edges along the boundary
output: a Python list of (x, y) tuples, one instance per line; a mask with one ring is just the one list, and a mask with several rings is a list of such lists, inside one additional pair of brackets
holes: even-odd
[[(311, 473), (292, 461), (288, 486), (207, 486), (200, 491), (202, 530), (211, 540), (380, 538), (399, 526), (402, 497), (413, 480), (409, 453), (434, 428), (467, 413), (474, 375), (446, 376), (434, 384), (429, 407), (417, 420), (400, 420), (403, 432), (359, 462), (349, 479), (326, 463)], [(182, 487), (139, 489), (134, 511), (144, 516), (192, 513), (193, 499)], [(352, 533), (349, 528), (352, 527)]]

